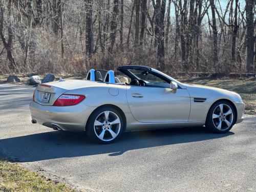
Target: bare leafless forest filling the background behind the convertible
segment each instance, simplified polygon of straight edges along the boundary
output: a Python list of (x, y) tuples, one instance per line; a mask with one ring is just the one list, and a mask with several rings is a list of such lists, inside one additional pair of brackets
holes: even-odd
[(255, 73), (254, 0), (0, 0), (0, 73)]

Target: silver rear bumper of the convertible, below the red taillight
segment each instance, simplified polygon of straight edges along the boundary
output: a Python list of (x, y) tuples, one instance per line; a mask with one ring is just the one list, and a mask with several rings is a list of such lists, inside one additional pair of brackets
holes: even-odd
[(72, 132), (84, 131), (87, 120), (95, 109), (82, 102), (73, 106), (49, 106), (33, 101), (29, 108), (31, 117), (36, 123)]

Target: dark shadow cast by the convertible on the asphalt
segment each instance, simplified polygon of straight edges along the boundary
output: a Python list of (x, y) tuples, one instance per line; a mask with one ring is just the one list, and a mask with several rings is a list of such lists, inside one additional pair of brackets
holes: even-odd
[(1, 139), (0, 146), (14, 162), (32, 162), (97, 154), (118, 156), (140, 148), (218, 139), (233, 134), (209, 133), (205, 127), (136, 131), (125, 132), (115, 143), (103, 145), (91, 142), (85, 133), (51, 131)]

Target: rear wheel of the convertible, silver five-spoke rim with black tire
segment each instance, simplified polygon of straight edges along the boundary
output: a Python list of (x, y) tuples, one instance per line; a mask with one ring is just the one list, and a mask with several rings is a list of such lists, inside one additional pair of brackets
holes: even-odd
[(105, 144), (112, 143), (123, 132), (122, 116), (113, 108), (99, 108), (90, 116), (86, 132), (94, 141)]

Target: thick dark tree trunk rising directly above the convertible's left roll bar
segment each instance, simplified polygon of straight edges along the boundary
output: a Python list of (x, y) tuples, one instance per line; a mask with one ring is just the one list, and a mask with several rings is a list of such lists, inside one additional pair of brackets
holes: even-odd
[(86, 54), (91, 57), (93, 53), (93, 22), (92, 0), (86, 0)]

